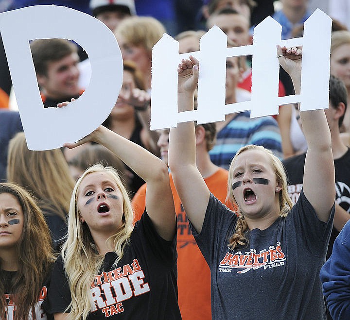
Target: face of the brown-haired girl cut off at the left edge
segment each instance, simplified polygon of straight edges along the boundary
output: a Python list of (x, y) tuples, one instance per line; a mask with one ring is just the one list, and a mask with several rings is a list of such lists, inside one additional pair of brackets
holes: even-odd
[(0, 251), (14, 249), (24, 225), (24, 215), (17, 198), (10, 193), (0, 194)]

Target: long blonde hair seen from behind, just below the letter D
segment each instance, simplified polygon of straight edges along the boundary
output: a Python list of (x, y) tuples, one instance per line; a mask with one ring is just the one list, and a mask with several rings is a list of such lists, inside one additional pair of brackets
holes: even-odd
[(31, 151), (24, 133), (18, 133), (9, 143), (7, 180), (34, 195), (45, 214), (65, 219), (74, 181), (61, 150)]

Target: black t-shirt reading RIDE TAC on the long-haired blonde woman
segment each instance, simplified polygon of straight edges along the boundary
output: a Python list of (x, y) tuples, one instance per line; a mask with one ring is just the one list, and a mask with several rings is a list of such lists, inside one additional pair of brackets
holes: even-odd
[[(93, 303), (87, 319), (181, 319), (177, 304), (176, 235), (172, 241), (161, 238), (145, 212), (114, 268), (116, 257), (114, 252), (105, 254), (103, 268), (90, 288)], [(70, 301), (60, 256), (43, 305), (53, 314), (61, 313)]]

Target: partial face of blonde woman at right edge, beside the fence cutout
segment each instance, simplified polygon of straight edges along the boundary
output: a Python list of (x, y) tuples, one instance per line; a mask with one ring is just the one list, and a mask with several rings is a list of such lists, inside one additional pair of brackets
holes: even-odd
[(331, 74), (343, 80), (350, 89), (350, 44), (343, 44), (332, 51)]

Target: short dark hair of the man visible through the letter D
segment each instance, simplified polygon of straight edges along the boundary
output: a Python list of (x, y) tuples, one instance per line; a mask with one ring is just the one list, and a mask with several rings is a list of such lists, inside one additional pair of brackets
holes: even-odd
[(78, 52), (78, 47), (67, 39), (38, 39), (30, 44), (35, 72), (47, 76), (49, 62), (58, 61)]

